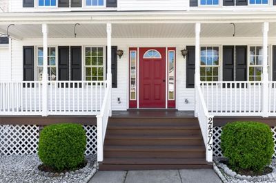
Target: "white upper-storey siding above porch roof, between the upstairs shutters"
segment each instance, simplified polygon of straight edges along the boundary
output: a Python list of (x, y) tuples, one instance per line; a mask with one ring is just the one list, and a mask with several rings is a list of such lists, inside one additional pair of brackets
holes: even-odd
[(119, 11), (187, 10), (188, 0), (118, 0)]

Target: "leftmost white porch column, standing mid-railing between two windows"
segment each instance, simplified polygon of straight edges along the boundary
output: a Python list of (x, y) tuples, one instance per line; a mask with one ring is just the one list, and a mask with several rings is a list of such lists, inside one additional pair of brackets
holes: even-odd
[(48, 116), (48, 25), (42, 24), (43, 74), (42, 74), (42, 116)]

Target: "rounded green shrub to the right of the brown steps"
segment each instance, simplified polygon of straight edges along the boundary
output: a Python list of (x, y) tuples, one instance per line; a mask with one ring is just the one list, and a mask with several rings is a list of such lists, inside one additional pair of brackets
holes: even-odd
[(235, 171), (262, 171), (272, 160), (273, 133), (261, 122), (230, 122), (222, 129), (221, 149)]

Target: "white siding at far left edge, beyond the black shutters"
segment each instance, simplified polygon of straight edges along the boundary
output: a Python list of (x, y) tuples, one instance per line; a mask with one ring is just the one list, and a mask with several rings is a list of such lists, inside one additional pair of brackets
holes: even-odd
[(8, 47), (0, 47), (0, 82), (10, 80), (11, 65)]

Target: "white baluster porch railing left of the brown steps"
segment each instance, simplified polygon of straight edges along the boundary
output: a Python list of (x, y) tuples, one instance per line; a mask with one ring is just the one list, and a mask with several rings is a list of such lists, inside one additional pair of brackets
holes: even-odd
[(0, 83), (0, 115), (97, 115), (106, 81), (48, 81), (47, 96), (42, 89), (41, 81)]

